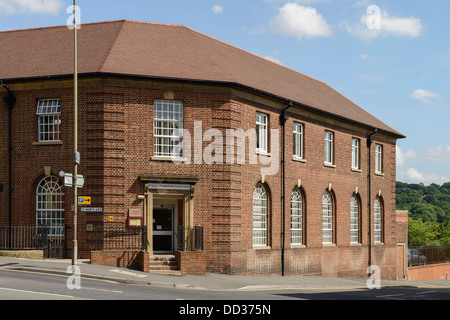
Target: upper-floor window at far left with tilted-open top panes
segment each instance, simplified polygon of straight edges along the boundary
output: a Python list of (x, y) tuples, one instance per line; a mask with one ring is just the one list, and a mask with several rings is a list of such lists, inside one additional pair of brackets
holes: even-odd
[(61, 100), (39, 100), (36, 115), (38, 116), (38, 141), (61, 141)]

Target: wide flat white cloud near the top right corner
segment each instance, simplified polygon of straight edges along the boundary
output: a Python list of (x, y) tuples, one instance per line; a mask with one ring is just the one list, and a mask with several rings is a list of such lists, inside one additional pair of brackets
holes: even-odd
[[(361, 16), (360, 22), (350, 25), (344, 22), (343, 25), (347, 31), (353, 36), (371, 40), (379, 36), (396, 36), (396, 37), (419, 37), (422, 34), (423, 26), (419, 18), (410, 17), (402, 18), (391, 16), (386, 10), (380, 9), (380, 15), (374, 16), (376, 13), (364, 14)], [(373, 19), (379, 19), (380, 28), (369, 28), (368, 22)]]

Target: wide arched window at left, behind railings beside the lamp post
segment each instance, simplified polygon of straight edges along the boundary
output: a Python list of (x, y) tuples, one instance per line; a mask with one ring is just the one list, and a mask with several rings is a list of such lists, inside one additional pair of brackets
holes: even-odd
[(37, 187), (36, 226), (49, 227), (49, 235), (64, 235), (64, 193), (57, 177), (46, 177)]

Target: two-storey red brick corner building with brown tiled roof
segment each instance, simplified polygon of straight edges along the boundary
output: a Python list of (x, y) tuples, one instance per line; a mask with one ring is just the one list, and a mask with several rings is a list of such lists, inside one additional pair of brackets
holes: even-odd
[[(72, 33), (0, 32), (0, 225), (66, 226), (69, 252), (73, 188), (59, 173), (73, 171)], [(113, 21), (78, 35), (78, 194), (100, 208), (78, 214), (80, 257), (95, 250), (92, 226), (134, 217), (149, 255), (179, 251), (178, 226), (203, 227), (197, 258), (212, 272), (378, 265), (395, 278), (402, 134), (321, 81), (184, 26)]]

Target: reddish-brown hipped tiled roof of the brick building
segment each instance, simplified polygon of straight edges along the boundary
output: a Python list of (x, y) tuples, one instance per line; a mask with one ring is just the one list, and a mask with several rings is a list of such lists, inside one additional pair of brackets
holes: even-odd
[[(73, 74), (72, 34), (67, 26), (0, 32), (0, 80)], [(83, 24), (78, 72), (234, 84), (403, 137), (326, 83), (185, 26)]]

